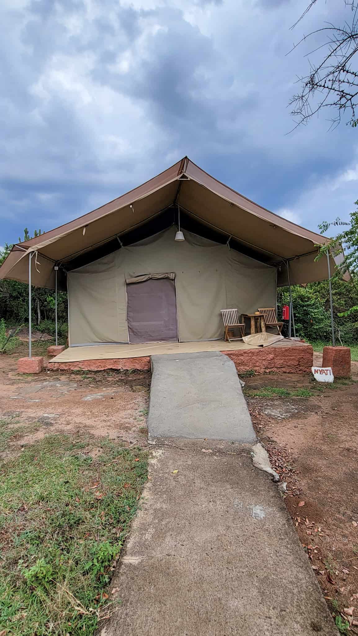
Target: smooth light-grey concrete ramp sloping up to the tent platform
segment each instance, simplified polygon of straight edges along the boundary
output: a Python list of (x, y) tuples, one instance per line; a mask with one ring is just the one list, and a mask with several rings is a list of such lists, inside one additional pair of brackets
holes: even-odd
[(255, 440), (235, 364), (218, 352), (152, 356), (150, 438)]

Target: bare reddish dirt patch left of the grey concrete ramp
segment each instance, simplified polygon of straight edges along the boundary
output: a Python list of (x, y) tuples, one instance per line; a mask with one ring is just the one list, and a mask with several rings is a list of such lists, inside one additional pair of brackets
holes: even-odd
[[(43, 355), (48, 343), (33, 345), (33, 355)], [(17, 359), (27, 355), (27, 345), (0, 356), (0, 419), (13, 418), (10, 440), (13, 454), (46, 434), (87, 432), (146, 445), (148, 371), (88, 371), (38, 375), (17, 373)], [(20, 434), (21, 433), (21, 434)], [(4, 453), (2, 455), (4, 458)]]

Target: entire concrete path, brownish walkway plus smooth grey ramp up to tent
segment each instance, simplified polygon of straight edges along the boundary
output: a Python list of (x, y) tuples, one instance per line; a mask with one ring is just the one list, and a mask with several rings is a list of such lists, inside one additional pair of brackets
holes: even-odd
[(152, 364), (149, 481), (101, 635), (336, 634), (277, 485), (252, 464), (234, 364), (219, 353)]

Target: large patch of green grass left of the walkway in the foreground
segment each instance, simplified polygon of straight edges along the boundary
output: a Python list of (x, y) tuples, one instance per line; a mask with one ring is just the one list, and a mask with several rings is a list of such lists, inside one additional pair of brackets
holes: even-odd
[[(99, 445), (95, 459), (83, 452)], [(3, 462), (0, 631), (79, 636), (103, 625), (146, 475), (143, 450), (83, 436), (47, 436)]]

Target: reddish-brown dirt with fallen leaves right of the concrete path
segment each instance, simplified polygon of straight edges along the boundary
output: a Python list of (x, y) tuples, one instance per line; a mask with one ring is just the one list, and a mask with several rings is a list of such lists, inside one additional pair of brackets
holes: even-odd
[[(322, 364), (322, 354), (315, 354), (315, 364)], [(249, 391), (312, 389), (315, 382), (293, 375), (244, 379)], [(358, 633), (358, 363), (352, 363), (352, 380), (314, 397), (247, 401), (272, 466), (287, 482), (287, 508), (324, 597)]]

